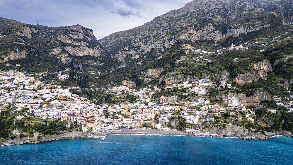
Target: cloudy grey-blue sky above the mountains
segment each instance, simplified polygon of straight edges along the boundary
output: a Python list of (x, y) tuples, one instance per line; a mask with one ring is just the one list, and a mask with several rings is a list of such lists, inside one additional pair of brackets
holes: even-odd
[(147, 23), (192, 0), (1, 0), (0, 17), (52, 27), (79, 24), (97, 39)]

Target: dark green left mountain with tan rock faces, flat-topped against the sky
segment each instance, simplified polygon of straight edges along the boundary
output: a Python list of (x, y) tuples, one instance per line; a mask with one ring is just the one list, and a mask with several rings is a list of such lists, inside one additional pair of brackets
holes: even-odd
[(64, 67), (73, 57), (98, 57), (103, 53), (93, 30), (80, 25), (50, 28), (0, 18), (0, 33), (0, 63), (9, 62), (8, 65), (15, 66), (13, 61), (25, 58), (18, 60), (18, 64), (33, 62), (30, 66), (39, 65), (40, 69), (51, 65)]

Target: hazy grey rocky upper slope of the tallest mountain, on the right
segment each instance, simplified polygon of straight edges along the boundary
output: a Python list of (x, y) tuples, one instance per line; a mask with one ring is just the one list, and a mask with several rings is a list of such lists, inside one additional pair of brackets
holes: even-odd
[[(99, 42), (105, 54), (127, 62), (156, 50), (157, 57), (179, 40), (246, 41), (292, 26), (292, 0), (194, 0), (151, 22), (111, 34)], [(260, 32), (260, 33), (257, 33)], [(231, 43), (230, 43), (231, 44)]]

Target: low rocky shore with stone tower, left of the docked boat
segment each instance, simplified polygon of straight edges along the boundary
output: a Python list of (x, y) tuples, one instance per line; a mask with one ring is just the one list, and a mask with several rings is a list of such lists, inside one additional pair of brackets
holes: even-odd
[(94, 134), (91, 133), (81, 133), (81, 132), (58, 132), (54, 135), (45, 135), (45, 136), (32, 136), (29, 135), (26, 137), (21, 138), (15, 138), (15, 139), (9, 139), (4, 142), (1, 142), (1, 144), (38, 144), (43, 142), (50, 142), (55, 140), (65, 140), (65, 139), (73, 139), (73, 138), (91, 138)]

